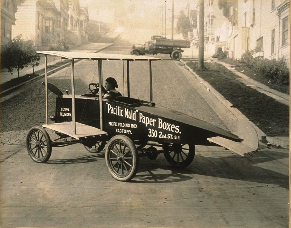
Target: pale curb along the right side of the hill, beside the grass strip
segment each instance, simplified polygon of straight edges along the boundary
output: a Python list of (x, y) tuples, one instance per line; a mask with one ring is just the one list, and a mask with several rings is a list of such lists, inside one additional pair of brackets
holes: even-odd
[[(206, 82), (204, 79), (199, 77), (189, 66), (186, 65), (186, 63), (183, 60), (180, 60), (184, 63), (184, 66), (207, 88), (208, 91), (210, 91), (226, 108), (239, 120), (243, 120), (246, 122), (249, 122), (258, 133), (258, 138), (260, 140), (266, 138), (266, 134), (258, 128), (253, 122), (251, 122), (244, 114), (242, 114), (237, 108), (232, 107), (233, 104), (230, 103), (228, 100), (226, 100), (217, 90), (215, 90), (208, 82)], [(223, 120), (222, 120), (223, 121)], [(223, 121), (224, 122), (224, 121)], [(224, 124), (227, 126), (228, 123)]]

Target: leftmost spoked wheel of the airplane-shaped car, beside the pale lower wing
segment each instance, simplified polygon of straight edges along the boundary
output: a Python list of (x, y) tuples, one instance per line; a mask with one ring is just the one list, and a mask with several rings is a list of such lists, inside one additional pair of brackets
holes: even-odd
[(45, 163), (52, 154), (52, 143), (47, 131), (41, 127), (32, 127), (26, 136), (29, 156), (35, 162)]

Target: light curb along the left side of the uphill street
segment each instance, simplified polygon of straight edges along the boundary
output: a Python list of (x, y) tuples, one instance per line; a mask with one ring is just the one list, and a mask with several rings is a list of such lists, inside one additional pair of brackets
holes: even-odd
[[(110, 44), (110, 45), (108, 45), (108, 46), (106, 46), (106, 47), (102, 47), (101, 49), (99, 49), (99, 50), (97, 50), (97, 51), (95, 51), (95, 52), (93, 52), (93, 53), (100, 52), (100, 51), (102, 51), (102, 50), (104, 50), (104, 49), (106, 49), (106, 48), (108, 48), (108, 47), (113, 46), (114, 44), (116, 44), (116, 43), (118, 42), (118, 40), (120, 40), (120, 39), (123, 37), (123, 35), (126, 33), (126, 31), (127, 31), (127, 30), (125, 30), (123, 33), (121, 33), (121, 35), (118, 37), (118, 39), (117, 39), (114, 43), (112, 43), (112, 44)], [(75, 63), (77, 63), (77, 62), (79, 62), (79, 61), (81, 61), (81, 59), (77, 59), (77, 60), (75, 61)], [(56, 71), (58, 71), (58, 70), (61, 70), (62, 68), (66, 67), (66, 66), (68, 66), (68, 65), (70, 65), (70, 63), (64, 63), (63, 65), (61, 65), (61, 66), (59, 66), (59, 67), (57, 67), (57, 68), (54, 68), (54, 69), (52, 69), (52, 70), (49, 70), (49, 71), (47, 72), (47, 74), (49, 75), (50, 73), (54, 73), (54, 72), (56, 72)], [(36, 80), (40, 79), (40, 78), (43, 77), (43, 76), (45, 76), (45, 73), (43, 73), (43, 74), (41, 74), (41, 75), (38, 75), (37, 77), (34, 77), (34, 78), (32, 78), (32, 79), (29, 79), (29, 80), (27, 80), (27, 81), (25, 81), (25, 82), (22, 82), (22, 83), (20, 83), (20, 84), (18, 84), (18, 85), (16, 85), (16, 86), (13, 86), (13, 87), (11, 87), (11, 88), (9, 88), (9, 89), (6, 89), (6, 90), (4, 90), (4, 91), (2, 91), (2, 92), (0, 93), (0, 97), (2, 97), (2, 96), (6, 96), (6, 95), (9, 94), (11, 91), (13, 91), (13, 90), (15, 90), (15, 89), (18, 89), (18, 88), (20, 88), (20, 87), (22, 87), (22, 86), (24, 86), (24, 85), (26, 85), (26, 84), (30, 84), (30, 83), (32, 83), (33, 81), (36, 81)], [(1, 101), (0, 101), (0, 102), (1, 102)]]

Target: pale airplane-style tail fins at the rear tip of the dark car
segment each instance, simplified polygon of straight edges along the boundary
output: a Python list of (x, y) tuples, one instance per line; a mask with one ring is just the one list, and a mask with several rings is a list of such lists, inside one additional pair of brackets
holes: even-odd
[(223, 146), (231, 151), (244, 156), (245, 153), (257, 151), (267, 148), (268, 146), (259, 143), (258, 134), (255, 128), (246, 121), (239, 121), (238, 123), (238, 136), (244, 139), (242, 142), (234, 142), (220, 136), (208, 138), (210, 142), (214, 142)]

